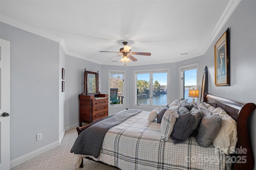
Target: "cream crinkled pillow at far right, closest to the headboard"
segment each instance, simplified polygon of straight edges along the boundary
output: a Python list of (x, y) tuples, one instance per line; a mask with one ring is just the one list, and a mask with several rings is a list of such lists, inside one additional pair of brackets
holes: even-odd
[(212, 145), (222, 150), (225, 154), (232, 154), (237, 143), (236, 121), (220, 107), (214, 109), (212, 113), (218, 114), (222, 118), (220, 131)]

